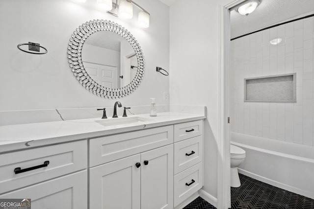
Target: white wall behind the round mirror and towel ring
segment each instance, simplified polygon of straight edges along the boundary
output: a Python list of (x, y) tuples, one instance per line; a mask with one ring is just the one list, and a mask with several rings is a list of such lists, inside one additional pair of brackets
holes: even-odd
[[(140, 44), (146, 63), (144, 79), (131, 95), (119, 99), (124, 106), (157, 104), (169, 91), (169, 78), (156, 66), (169, 69), (169, 7), (159, 0), (135, 0), (151, 13), (149, 28), (137, 26), (137, 10), (131, 20), (121, 20), (95, 8), (96, 0), (1, 0), (0, 111), (111, 106), (114, 100), (97, 97), (75, 79), (68, 65), (67, 47), (72, 32), (82, 23), (107, 19), (126, 27)], [(32, 55), (17, 49), (36, 42), (48, 49)]]

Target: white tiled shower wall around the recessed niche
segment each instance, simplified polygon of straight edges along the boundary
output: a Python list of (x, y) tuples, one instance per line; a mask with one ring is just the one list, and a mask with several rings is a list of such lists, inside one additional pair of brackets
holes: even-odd
[[(231, 42), (232, 132), (314, 145), (313, 29), (311, 17)], [(292, 72), (296, 103), (244, 102), (244, 78)]]

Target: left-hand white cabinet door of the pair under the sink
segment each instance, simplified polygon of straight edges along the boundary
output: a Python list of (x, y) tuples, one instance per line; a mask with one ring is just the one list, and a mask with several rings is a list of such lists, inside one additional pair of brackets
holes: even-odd
[(90, 169), (90, 209), (140, 209), (140, 154)]

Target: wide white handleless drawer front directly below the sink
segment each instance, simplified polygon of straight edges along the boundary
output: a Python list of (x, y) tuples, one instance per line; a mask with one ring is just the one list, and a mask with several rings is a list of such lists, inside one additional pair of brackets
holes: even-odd
[(90, 167), (171, 143), (173, 143), (172, 125), (90, 139)]

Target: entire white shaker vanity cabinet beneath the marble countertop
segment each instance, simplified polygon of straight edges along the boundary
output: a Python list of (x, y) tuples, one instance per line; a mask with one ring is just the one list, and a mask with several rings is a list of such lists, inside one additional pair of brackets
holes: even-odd
[(2, 151), (0, 199), (31, 199), (32, 209), (182, 209), (203, 186), (202, 117), (81, 137)]

